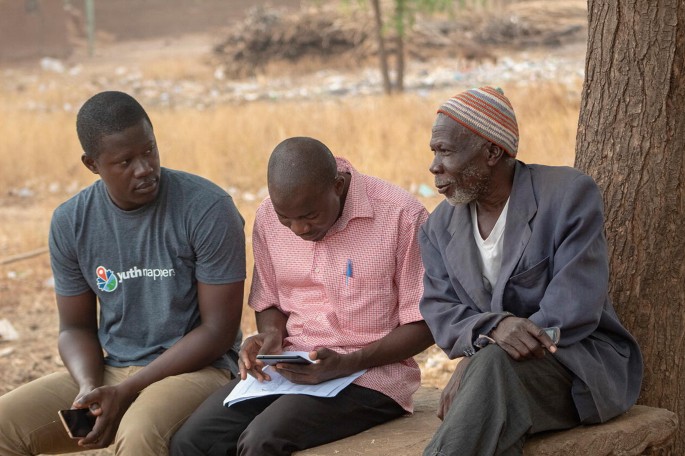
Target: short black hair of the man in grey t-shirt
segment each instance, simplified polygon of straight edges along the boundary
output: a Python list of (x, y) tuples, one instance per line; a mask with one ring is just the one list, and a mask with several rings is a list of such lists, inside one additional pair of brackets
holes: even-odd
[(132, 96), (117, 91), (100, 92), (86, 101), (76, 115), (76, 133), (86, 155), (100, 155), (100, 139), (134, 126), (142, 119), (152, 122)]

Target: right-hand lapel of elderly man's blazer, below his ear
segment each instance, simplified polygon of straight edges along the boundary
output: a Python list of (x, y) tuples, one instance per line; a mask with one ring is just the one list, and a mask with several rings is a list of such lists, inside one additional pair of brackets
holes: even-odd
[(492, 310), (504, 310), (504, 288), (512, 276), (514, 268), (523, 255), (531, 230), (530, 221), (537, 213), (537, 202), (533, 192), (530, 170), (525, 164), (517, 161), (514, 171), (514, 184), (509, 195), (509, 209), (504, 228), (504, 247), (502, 252), (502, 267), (497, 277), (497, 285), (492, 292)]

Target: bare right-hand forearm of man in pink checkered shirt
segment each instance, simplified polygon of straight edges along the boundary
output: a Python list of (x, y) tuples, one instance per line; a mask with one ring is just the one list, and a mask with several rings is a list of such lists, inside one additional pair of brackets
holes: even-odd
[(433, 336), (423, 321), (398, 326), (385, 337), (345, 355), (351, 372), (397, 363), (433, 345)]

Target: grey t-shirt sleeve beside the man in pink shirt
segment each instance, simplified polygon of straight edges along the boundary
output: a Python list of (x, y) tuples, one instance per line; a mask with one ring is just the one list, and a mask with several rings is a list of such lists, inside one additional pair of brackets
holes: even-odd
[(243, 217), (230, 196), (219, 198), (207, 209), (191, 239), (197, 280), (213, 285), (245, 280), (243, 228)]

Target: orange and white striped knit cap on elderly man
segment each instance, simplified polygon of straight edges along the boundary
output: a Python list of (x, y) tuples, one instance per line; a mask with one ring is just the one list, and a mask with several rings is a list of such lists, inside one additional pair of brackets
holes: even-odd
[(438, 113), (445, 114), (516, 157), (519, 142), (516, 115), (499, 87), (481, 87), (459, 93), (444, 102)]

